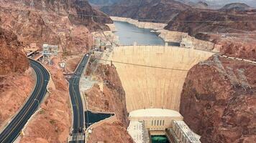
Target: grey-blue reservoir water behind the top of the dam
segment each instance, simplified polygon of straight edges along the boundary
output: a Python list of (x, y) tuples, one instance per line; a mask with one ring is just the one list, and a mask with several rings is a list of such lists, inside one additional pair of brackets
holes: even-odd
[(133, 45), (134, 41), (137, 45), (164, 45), (165, 41), (157, 34), (150, 32), (152, 29), (141, 29), (137, 26), (122, 21), (114, 21), (116, 26), (116, 34), (122, 45)]

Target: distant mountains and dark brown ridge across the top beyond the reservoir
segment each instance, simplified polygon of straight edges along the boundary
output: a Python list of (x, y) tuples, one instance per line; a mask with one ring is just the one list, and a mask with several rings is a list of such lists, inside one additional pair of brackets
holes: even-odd
[(204, 1), (199, 4), (201, 7), (188, 6), (176, 0), (123, 0), (112, 6), (103, 6), (101, 11), (110, 16), (167, 23), (165, 29), (186, 32), (191, 36), (208, 31), (230, 33), (256, 30), (256, 10), (247, 4), (227, 4), (216, 10), (205, 9), (207, 4)]

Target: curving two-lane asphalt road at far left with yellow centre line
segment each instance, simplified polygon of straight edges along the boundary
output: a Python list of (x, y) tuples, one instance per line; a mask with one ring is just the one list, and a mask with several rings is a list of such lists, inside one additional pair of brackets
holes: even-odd
[(23, 127), (27, 124), (27, 121), (32, 117), (32, 114), (34, 114), (40, 107), (40, 103), (47, 92), (47, 84), (50, 79), (50, 74), (45, 67), (37, 61), (30, 59), (30, 66), (32, 66), (37, 75), (35, 89), (22, 109), (20, 109), (19, 113), (16, 114), (12, 121), (1, 132), (1, 143), (10, 143), (17, 139), (19, 134), (22, 132)]

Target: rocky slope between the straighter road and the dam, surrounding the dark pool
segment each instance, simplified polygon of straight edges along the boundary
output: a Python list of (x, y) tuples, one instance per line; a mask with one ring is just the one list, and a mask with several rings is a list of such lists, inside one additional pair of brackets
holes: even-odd
[(88, 142), (132, 143), (132, 137), (127, 132), (129, 121), (125, 92), (115, 67), (99, 64), (97, 60), (92, 59), (86, 74), (97, 81), (85, 92), (88, 109), (115, 114), (114, 119), (108, 119), (93, 127)]

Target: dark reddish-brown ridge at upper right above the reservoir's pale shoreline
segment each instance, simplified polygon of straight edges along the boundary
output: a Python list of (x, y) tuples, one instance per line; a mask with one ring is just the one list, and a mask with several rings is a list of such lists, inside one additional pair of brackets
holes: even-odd
[(198, 32), (240, 33), (241, 31), (255, 31), (256, 13), (232, 14), (215, 10), (187, 9), (175, 16), (165, 29), (183, 31), (192, 36)]

